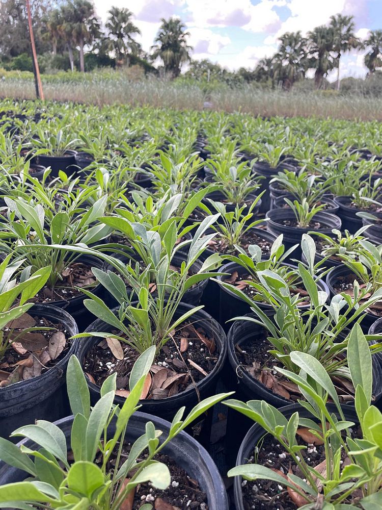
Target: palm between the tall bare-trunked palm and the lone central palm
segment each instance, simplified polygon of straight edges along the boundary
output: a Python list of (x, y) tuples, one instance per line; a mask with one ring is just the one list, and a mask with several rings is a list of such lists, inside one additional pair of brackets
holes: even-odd
[(134, 40), (134, 35), (140, 35), (141, 31), (131, 21), (132, 12), (123, 7), (112, 7), (108, 11), (106, 29), (108, 37), (104, 39), (103, 46), (108, 52), (114, 51), (117, 62), (128, 62), (129, 51), (137, 55), (141, 51), (141, 45)]

